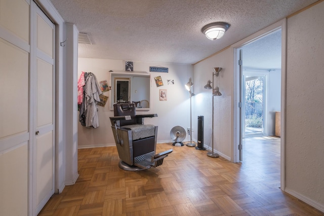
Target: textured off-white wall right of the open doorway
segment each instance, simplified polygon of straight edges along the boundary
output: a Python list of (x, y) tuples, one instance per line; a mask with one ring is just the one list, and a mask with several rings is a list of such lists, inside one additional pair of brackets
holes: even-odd
[(322, 211), (323, 20), (324, 2), (288, 19), (286, 113), (287, 191)]

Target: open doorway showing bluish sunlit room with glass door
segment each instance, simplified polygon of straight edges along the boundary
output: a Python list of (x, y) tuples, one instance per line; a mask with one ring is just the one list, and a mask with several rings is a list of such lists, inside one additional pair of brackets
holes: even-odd
[[(236, 162), (251, 167), (252, 176), (272, 179), (282, 186), (281, 138), (276, 134), (281, 111), (282, 25), (268, 27), (237, 43)], [(284, 28), (285, 29), (285, 28)], [(284, 45), (285, 46), (285, 45)], [(276, 125), (276, 121), (279, 124)], [(279, 129), (280, 131), (280, 129)], [(281, 165), (281, 166), (280, 166)]]

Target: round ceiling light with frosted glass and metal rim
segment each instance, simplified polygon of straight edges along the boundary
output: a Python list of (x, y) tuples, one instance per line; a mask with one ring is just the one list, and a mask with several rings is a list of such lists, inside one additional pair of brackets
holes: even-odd
[(213, 22), (201, 28), (201, 32), (203, 32), (210, 40), (221, 39), (229, 26), (230, 24), (226, 22)]

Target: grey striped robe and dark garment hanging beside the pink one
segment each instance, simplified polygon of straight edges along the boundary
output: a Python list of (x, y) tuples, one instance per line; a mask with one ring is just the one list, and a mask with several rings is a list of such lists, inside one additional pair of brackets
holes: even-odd
[(88, 128), (99, 127), (97, 103), (102, 94), (97, 78), (92, 73), (84, 73), (85, 85), (83, 88), (83, 99), (80, 107), (79, 121)]

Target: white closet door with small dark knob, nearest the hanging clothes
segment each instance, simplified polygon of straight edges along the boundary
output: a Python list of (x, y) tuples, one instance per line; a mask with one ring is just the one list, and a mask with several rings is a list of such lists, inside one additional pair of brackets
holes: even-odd
[(41, 211), (55, 187), (55, 26), (32, 2), (34, 44), (33, 76), (33, 208)]

